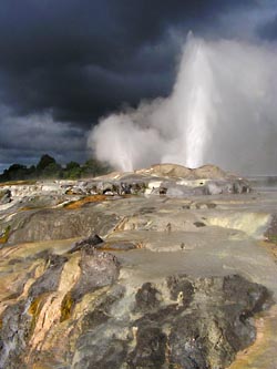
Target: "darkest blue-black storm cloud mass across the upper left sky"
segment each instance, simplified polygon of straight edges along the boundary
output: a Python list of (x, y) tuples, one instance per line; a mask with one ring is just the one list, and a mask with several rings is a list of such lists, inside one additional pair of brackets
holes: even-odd
[[(163, 64), (155, 49), (142, 57), (143, 48), (166, 43), (170, 28), (197, 31), (212, 27), (220, 12), (249, 3), (253, 1), (2, 1), (3, 103), (19, 114), (51, 109), (57, 119), (88, 124), (122, 101), (135, 103), (166, 94), (175, 54), (167, 55)], [(88, 65), (94, 72), (86, 73)], [(152, 85), (161, 72), (164, 81)], [(126, 73), (133, 73), (132, 86), (129, 78), (124, 83)], [(153, 75), (148, 84), (141, 83), (142, 73)]]

